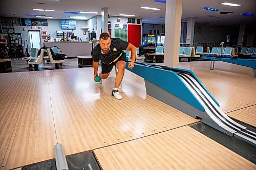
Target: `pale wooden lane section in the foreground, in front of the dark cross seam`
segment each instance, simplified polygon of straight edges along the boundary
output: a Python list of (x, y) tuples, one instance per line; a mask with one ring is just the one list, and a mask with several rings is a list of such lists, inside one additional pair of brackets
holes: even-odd
[(256, 165), (184, 126), (94, 150), (102, 169), (255, 169)]

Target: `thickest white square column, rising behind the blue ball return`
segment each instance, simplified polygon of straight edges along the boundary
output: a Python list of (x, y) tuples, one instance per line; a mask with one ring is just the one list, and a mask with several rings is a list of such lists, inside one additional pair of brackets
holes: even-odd
[(178, 67), (182, 0), (166, 0), (165, 6), (165, 40), (163, 64), (170, 67)]

